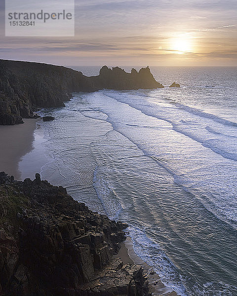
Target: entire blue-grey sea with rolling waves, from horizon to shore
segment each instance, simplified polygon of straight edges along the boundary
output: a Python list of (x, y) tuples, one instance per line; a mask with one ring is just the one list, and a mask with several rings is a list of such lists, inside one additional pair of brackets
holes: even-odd
[(135, 253), (178, 295), (237, 296), (237, 68), (150, 68), (163, 89), (74, 93), (41, 110), (56, 119), (37, 123), (22, 179), (41, 159), (42, 179), (127, 222)]

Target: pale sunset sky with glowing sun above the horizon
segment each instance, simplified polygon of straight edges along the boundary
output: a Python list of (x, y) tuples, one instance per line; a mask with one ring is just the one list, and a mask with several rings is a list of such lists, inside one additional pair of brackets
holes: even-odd
[(236, 0), (75, 0), (74, 37), (5, 37), (4, 13), (0, 0), (1, 59), (64, 66), (237, 66)]

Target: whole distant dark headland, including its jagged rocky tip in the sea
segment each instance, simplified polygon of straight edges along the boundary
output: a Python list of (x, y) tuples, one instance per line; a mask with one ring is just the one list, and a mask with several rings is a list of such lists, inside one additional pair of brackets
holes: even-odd
[(63, 107), (72, 92), (107, 89), (163, 88), (149, 67), (131, 73), (104, 66), (87, 77), (62, 66), (0, 60), (0, 124), (23, 123), (37, 108)]

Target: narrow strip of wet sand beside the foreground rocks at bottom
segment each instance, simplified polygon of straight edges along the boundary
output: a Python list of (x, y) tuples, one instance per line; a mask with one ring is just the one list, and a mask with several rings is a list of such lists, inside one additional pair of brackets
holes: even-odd
[(136, 264), (141, 265), (147, 274), (149, 287), (153, 296), (177, 296), (178, 294), (174, 292), (171, 288), (166, 287), (160, 280), (158, 274), (153, 270), (153, 267), (147, 264), (143, 259), (141, 259), (133, 250), (132, 240), (130, 236), (126, 237), (126, 240), (120, 243), (121, 248), (114, 258), (121, 258), (124, 264)]

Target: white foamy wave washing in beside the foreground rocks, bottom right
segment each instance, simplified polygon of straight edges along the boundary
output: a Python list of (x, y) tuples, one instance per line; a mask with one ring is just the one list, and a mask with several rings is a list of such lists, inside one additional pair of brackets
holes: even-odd
[(161, 282), (181, 296), (234, 296), (237, 287), (222, 282), (198, 284), (194, 278), (184, 275), (163, 252), (158, 243), (151, 240), (141, 228), (130, 225), (129, 236), (133, 250), (141, 259), (151, 265)]

